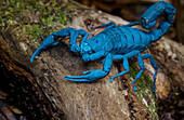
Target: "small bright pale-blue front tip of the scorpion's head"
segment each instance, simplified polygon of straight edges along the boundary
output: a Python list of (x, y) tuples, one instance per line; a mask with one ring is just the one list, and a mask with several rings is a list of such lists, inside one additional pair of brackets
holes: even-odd
[(81, 50), (80, 50), (80, 54), (91, 54), (92, 53), (92, 49), (91, 46), (87, 43), (87, 42), (82, 42), (80, 45)]

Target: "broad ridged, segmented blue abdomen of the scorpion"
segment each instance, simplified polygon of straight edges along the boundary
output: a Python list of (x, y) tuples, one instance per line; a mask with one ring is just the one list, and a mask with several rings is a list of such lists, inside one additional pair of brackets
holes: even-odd
[[(102, 44), (108, 44), (104, 46), (108, 46), (107, 51), (113, 54), (126, 54), (133, 50), (144, 51), (150, 45), (150, 35), (146, 35), (144, 31), (132, 27), (115, 27), (101, 34), (106, 39), (105, 41), (102, 40), (104, 42)], [(109, 44), (111, 48), (109, 48)]]

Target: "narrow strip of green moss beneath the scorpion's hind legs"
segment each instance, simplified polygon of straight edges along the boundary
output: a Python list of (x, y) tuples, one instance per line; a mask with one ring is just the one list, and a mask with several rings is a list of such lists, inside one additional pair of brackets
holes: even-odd
[[(129, 79), (133, 81), (139, 72), (140, 72), (140, 69), (136, 67), (136, 65), (133, 63), (130, 64)], [(152, 78), (147, 77), (143, 72), (135, 84), (137, 89), (137, 91), (135, 92), (136, 96), (149, 109), (149, 112), (153, 119), (157, 119), (157, 114), (156, 114), (157, 108), (155, 105), (156, 99), (155, 99), (155, 94), (152, 89), (153, 86)]]

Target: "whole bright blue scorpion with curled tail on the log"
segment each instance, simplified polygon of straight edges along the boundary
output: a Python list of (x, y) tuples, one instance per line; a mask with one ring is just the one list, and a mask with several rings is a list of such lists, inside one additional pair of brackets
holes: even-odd
[[(160, 22), (158, 27), (153, 30), (143, 31), (141, 29), (132, 27), (134, 25), (141, 24), (143, 28), (150, 29), (156, 25), (157, 17), (161, 15), (163, 15), (165, 18)], [(175, 9), (173, 8), (173, 5), (168, 2), (160, 1), (153, 4), (142, 15), (141, 22), (132, 22), (128, 25), (119, 27), (116, 27), (115, 23), (103, 24), (95, 28), (92, 27), (93, 29), (97, 29), (101, 27), (106, 28), (90, 39), (88, 39), (89, 34), (83, 29), (76, 30), (71, 27), (65, 28), (48, 36), (32, 54), (30, 63), (32, 63), (34, 58), (41, 50), (49, 46), (57, 45), (60, 41), (55, 40), (70, 35), (70, 51), (75, 53), (80, 53), (83, 62), (96, 61), (98, 58), (104, 59), (102, 61), (103, 70), (88, 70), (83, 72), (83, 76), (65, 76), (66, 80), (76, 82), (90, 82), (104, 78), (109, 74), (114, 59), (123, 59), (122, 65), (124, 71), (121, 71), (120, 74), (111, 77), (110, 82), (113, 82), (115, 78), (129, 72), (128, 58), (137, 55), (137, 62), (141, 71), (136, 75), (134, 81), (132, 82), (133, 89), (134, 91), (136, 91), (134, 83), (145, 70), (143, 59), (149, 58), (149, 62), (155, 69), (153, 90), (154, 92), (156, 92), (155, 82), (158, 70), (157, 64), (152, 54), (141, 54), (141, 52), (145, 51), (152, 42), (157, 41), (169, 30), (174, 22), (174, 17)], [(79, 35), (82, 36), (82, 40), (80, 45), (77, 45), (76, 39)]]

